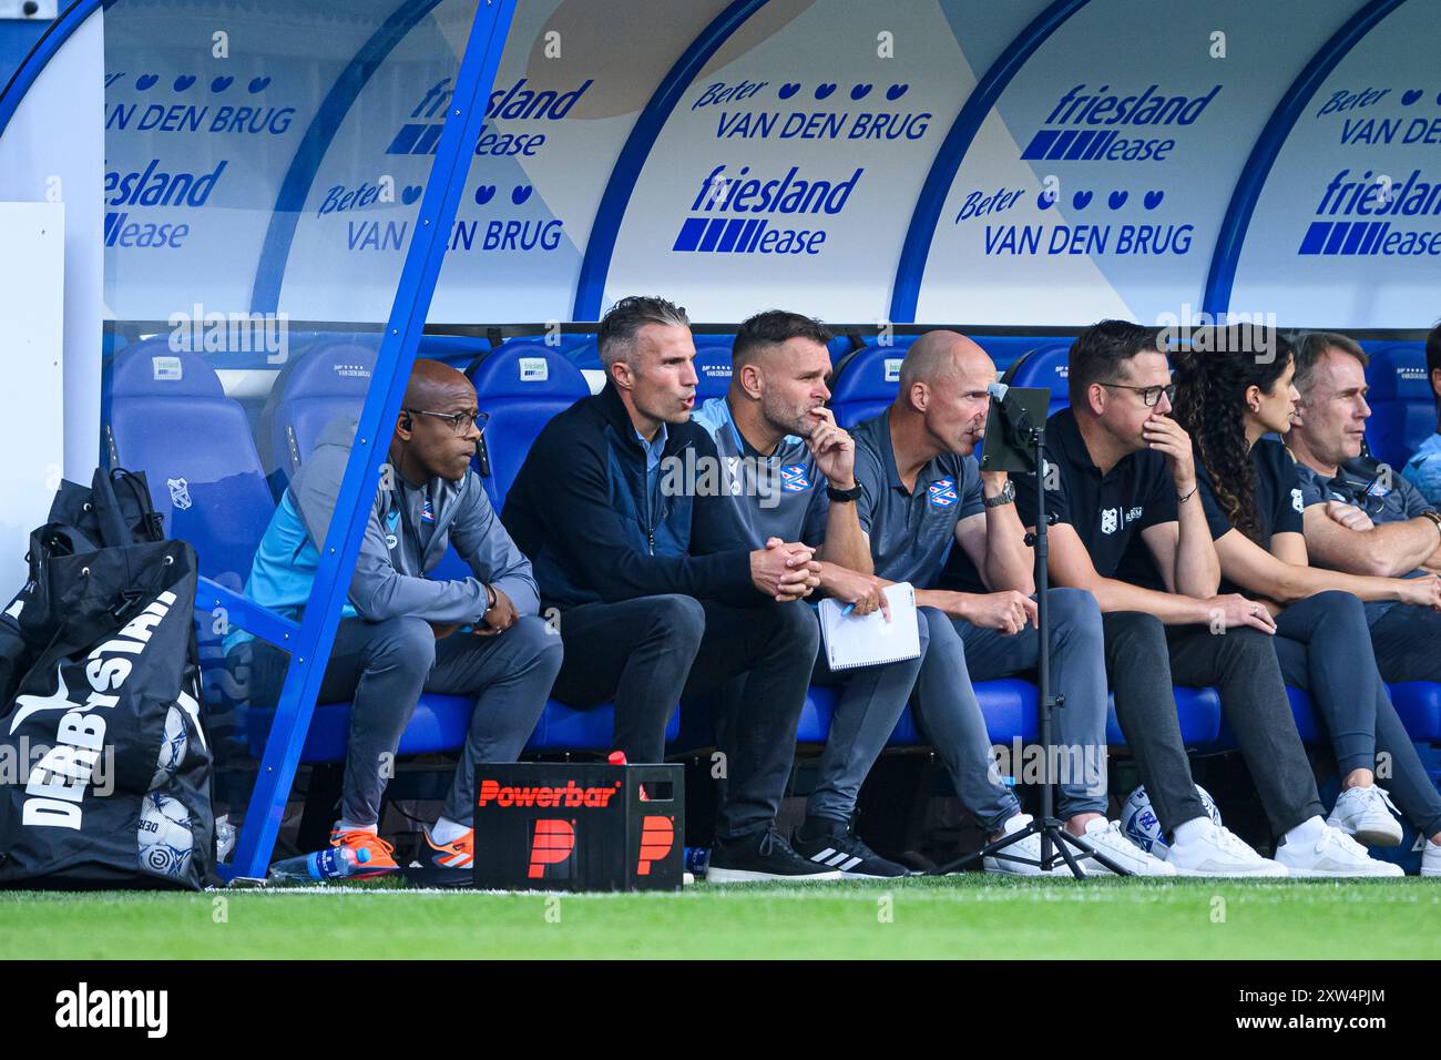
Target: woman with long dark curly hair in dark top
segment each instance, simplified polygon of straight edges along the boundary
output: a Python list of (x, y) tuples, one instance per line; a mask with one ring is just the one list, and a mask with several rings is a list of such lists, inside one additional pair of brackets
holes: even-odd
[[(1195, 440), (1222, 591), (1258, 597), (1275, 616), (1281, 672), (1310, 694), (1330, 733), (1342, 793), (1329, 823), (1360, 842), (1393, 847), (1402, 839), (1392, 816), (1399, 808), (1432, 844), (1441, 842), (1441, 793), (1391, 704), (1362, 607), (1363, 600), (1399, 600), (1441, 609), (1441, 581), (1308, 564), (1295, 463), (1285, 446), (1265, 437), (1290, 430), (1300, 401), (1287, 339), (1277, 336), (1271, 358), (1183, 352), (1174, 363), (1176, 420)], [(1379, 763), (1389, 764), (1391, 795), (1376, 786)]]

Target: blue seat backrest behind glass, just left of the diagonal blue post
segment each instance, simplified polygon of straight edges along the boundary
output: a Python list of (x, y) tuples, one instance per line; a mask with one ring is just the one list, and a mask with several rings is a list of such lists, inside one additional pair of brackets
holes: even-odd
[(379, 348), (379, 336), (320, 342), (280, 374), (269, 402), (268, 466), (293, 477), (330, 423), (360, 415)]

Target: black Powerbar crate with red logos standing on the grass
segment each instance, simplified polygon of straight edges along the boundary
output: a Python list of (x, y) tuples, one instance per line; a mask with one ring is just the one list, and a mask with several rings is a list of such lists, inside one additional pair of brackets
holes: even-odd
[(679, 891), (683, 766), (539, 761), (476, 770), (476, 887)]

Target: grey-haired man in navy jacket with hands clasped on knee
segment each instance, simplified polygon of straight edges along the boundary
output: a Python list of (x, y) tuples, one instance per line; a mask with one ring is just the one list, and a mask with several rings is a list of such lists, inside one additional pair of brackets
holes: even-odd
[(663, 761), (676, 702), (745, 675), (720, 725), (728, 783), (706, 878), (837, 878), (775, 832), (818, 639), (795, 601), (820, 565), (798, 542), (751, 548), (715, 443), (690, 420), (684, 310), (624, 299), (598, 345), (605, 388), (546, 425), (503, 515), (542, 604), (561, 611), (568, 658), (553, 695), (614, 699), (617, 748)]

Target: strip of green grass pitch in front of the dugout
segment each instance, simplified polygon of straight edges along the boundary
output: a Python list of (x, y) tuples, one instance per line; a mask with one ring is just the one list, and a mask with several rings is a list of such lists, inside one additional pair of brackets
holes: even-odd
[(1029, 881), (497, 894), (0, 893), (0, 960), (1441, 958), (1441, 880)]

